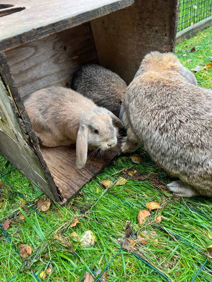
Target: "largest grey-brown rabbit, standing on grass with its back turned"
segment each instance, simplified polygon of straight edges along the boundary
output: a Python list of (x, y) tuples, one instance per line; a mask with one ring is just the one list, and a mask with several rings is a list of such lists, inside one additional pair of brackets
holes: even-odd
[(180, 179), (168, 184), (176, 195), (212, 197), (212, 90), (189, 82), (182, 68), (167, 69), (173, 56), (162, 56), (164, 61), (157, 61), (155, 52), (146, 55), (142, 74), (127, 88), (127, 137), (121, 150), (133, 152), (142, 145), (160, 167)]

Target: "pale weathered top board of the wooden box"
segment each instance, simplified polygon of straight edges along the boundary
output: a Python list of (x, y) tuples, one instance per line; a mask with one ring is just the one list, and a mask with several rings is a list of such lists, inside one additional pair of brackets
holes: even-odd
[(122, 9), (133, 0), (9, 0), (7, 3), (14, 7), (6, 10), (26, 9), (0, 18), (0, 51)]

